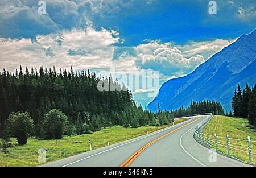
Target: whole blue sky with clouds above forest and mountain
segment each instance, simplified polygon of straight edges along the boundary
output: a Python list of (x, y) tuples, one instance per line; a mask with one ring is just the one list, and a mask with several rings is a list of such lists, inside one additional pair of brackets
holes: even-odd
[[(1, 69), (155, 71), (160, 86), (256, 28), (255, 0), (216, 1), (216, 15), (207, 0), (45, 0), (46, 14), (38, 13), (38, 2), (0, 1)], [(144, 106), (152, 91), (135, 87), (134, 98)]]

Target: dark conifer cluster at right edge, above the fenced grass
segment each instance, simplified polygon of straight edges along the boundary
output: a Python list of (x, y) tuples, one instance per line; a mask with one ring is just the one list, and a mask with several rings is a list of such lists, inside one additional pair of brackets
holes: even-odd
[(246, 84), (245, 89), (238, 84), (232, 98), (232, 109), (234, 117), (247, 118), (250, 124), (256, 125), (256, 83), (252, 88)]

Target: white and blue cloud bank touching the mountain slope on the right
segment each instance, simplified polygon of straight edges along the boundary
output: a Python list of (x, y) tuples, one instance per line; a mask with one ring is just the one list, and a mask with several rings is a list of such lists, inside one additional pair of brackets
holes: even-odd
[(184, 76), (208, 60), (214, 53), (233, 43), (234, 40), (216, 39), (204, 42), (189, 42), (184, 45), (147, 42), (135, 47), (115, 47), (113, 60), (129, 61), (138, 69), (159, 71), (167, 80)]

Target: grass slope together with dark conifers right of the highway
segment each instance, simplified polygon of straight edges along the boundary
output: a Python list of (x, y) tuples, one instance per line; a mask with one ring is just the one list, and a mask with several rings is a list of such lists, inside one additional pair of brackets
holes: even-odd
[[(229, 135), (229, 155), (243, 162), (250, 163), (249, 142), (251, 144), (251, 164), (256, 164), (256, 83), (252, 88), (240, 84), (234, 91), (232, 109), (229, 117), (214, 116), (204, 128), (204, 142), (216, 148), (214, 134), (217, 134), (217, 150), (228, 155), (227, 135)], [(207, 136), (209, 133), (209, 139)], [(208, 141), (209, 140), (209, 141)]]

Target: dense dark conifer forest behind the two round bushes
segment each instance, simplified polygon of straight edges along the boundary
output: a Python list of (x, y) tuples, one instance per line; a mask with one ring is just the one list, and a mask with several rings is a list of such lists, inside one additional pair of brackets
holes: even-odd
[[(100, 80), (107, 81), (115, 91), (100, 92), (97, 84)], [(69, 130), (82, 134), (81, 126), (85, 123), (89, 130), (96, 131), (106, 126), (123, 125), (139, 127), (155, 125), (159, 118), (170, 123), (169, 112), (155, 115), (143, 111), (134, 103), (131, 92), (120, 85), (112, 77), (96, 76), (95, 72), (75, 72), (55, 68), (22, 67), (14, 74), (5, 69), (0, 75), (0, 123), (3, 130), (4, 122), (13, 111), (27, 111), (34, 121), (32, 135), (42, 137), (44, 116), (51, 109), (59, 109), (68, 117)], [(163, 124), (163, 123), (159, 123)], [(87, 127), (88, 127), (87, 126)]]

